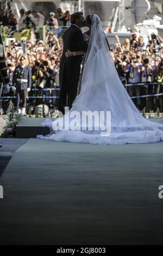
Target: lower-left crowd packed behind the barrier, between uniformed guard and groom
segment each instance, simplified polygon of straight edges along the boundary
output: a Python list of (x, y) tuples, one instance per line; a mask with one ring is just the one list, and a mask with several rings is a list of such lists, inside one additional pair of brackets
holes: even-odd
[[(27, 95), (28, 106), (45, 103), (49, 109), (57, 107), (58, 100), (53, 96), (56, 96), (56, 93), (59, 95), (59, 91), (46, 90), (46, 88), (59, 87), (62, 42), (59, 41), (58, 37), (48, 32), (45, 42), (39, 40), (32, 44), (32, 41), (27, 41), (23, 45), (11, 42), (9, 46), (4, 47), (4, 53), (10, 77), (10, 93), (5, 96), (12, 97), (16, 95), (16, 84), (13, 80), (14, 72), (21, 65), (21, 58), (24, 57), (26, 65), (30, 66), (32, 70), (32, 84)], [(51, 96), (51, 98), (48, 98), (48, 96)], [(45, 98), (43, 99), (43, 97)], [(5, 105), (4, 111), (8, 108), (9, 102), (16, 106), (16, 99), (6, 99), (5, 102), (1, 100), (1, 103)]]

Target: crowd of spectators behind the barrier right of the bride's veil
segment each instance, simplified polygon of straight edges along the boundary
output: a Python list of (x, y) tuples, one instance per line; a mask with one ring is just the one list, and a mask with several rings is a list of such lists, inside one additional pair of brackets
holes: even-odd
[[(111, 45), (111, 56), (114, 59), (116, 70), (135, 105), (148, 111), (155, 111), (157, 107), (163, 111), (163, 96), (140, 97), (146, 94), (163, 93), (163, 39), (151, 34), (151, 40), (145, 44), (143, 36), (137, 38), (136, 34), (131, 39), (125, 39), (121, 44), (116, 36), (116, 44)], [(144, 83), (145, 85), (137, 85)], [(147, 102), (148, 100), (148, 102)]]

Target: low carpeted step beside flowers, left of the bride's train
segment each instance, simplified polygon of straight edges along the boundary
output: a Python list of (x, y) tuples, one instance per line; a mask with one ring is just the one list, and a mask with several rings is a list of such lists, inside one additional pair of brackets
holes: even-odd
[[(42, 127), (41, 123), (46, 118), (22, 118), (16, 126), (16, 138), (35, 138), (36, 135), (47, 135), (48, 127)], [(52, 121), (55, 118), (50, 118)]]

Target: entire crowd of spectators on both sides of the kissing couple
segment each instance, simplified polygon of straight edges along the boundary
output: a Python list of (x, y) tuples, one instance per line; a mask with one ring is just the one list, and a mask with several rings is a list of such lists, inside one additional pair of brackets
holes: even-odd
[[(58, 26), (70, 26), (70, 12), (62, 13), (60, 8), (57, 13), (50, 13), (47, 20), (37, 11), (24, 12), (20, 10), (19, 20), (14, 18), (12, 13), (8, 17), (4, 11), (0, 12), (0, 25), (8, 26), (12, 31), (17, 29), (34, 27), (35, 32), (40, 26), (48, 24), (54, 28)], [(135, 105), (139, 109), (147, 107), (148, 111), (156, 111), (159, 107), (163, 112), (163, 96), (140, 97), (146, 94), (163, 93), (163, 39), (151, 34), (151, 40), (146, 44), (142, 35), (137, 38), (133, 34), (130, 39), (125, 39), (120, 43), (118, 36), (115, 37), (115, 44), (110, 45), (111, 56), (114, 60), (116, 70), (120, 79)], [(25, 50), (24, 50), (25, 49)], [(32, 69), (32, 87), (28, 96), (36, 96), (36, 99), (29, 99), (29, 104), (39, 105), (44, 102), (49, 108), (56, 106), (55, 98), (42, 99), (42, 96), (54, 96), (55, 91), (41, 90), (45, 88), (55, 88), (59, 86), (59, 65), (62, 54), (62, 40), (58, 35), (48, 32), (45, 42), (38, 40), (36, 42), (27, 41), (26, 45), (11, 42), (5, 47), (5, 58), (7, 59), (8, 70), (10, 74), (11, 92), (14, 95), (15, 86), (12, 82), (12, 75), (17, 65), (20, 65), (20, 58), (26, 57), (27, 65)], [(135, 84), (140, 84), (135, 86)], [(144, 85), (143, 85), (144, 84)]]

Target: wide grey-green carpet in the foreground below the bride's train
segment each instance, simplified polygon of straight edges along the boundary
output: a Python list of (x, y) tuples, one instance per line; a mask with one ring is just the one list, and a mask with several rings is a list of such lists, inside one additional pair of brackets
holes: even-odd
[(0, 243), (162, 244), (162, 153), (163, 142), (29, 139), (0, 180)]

